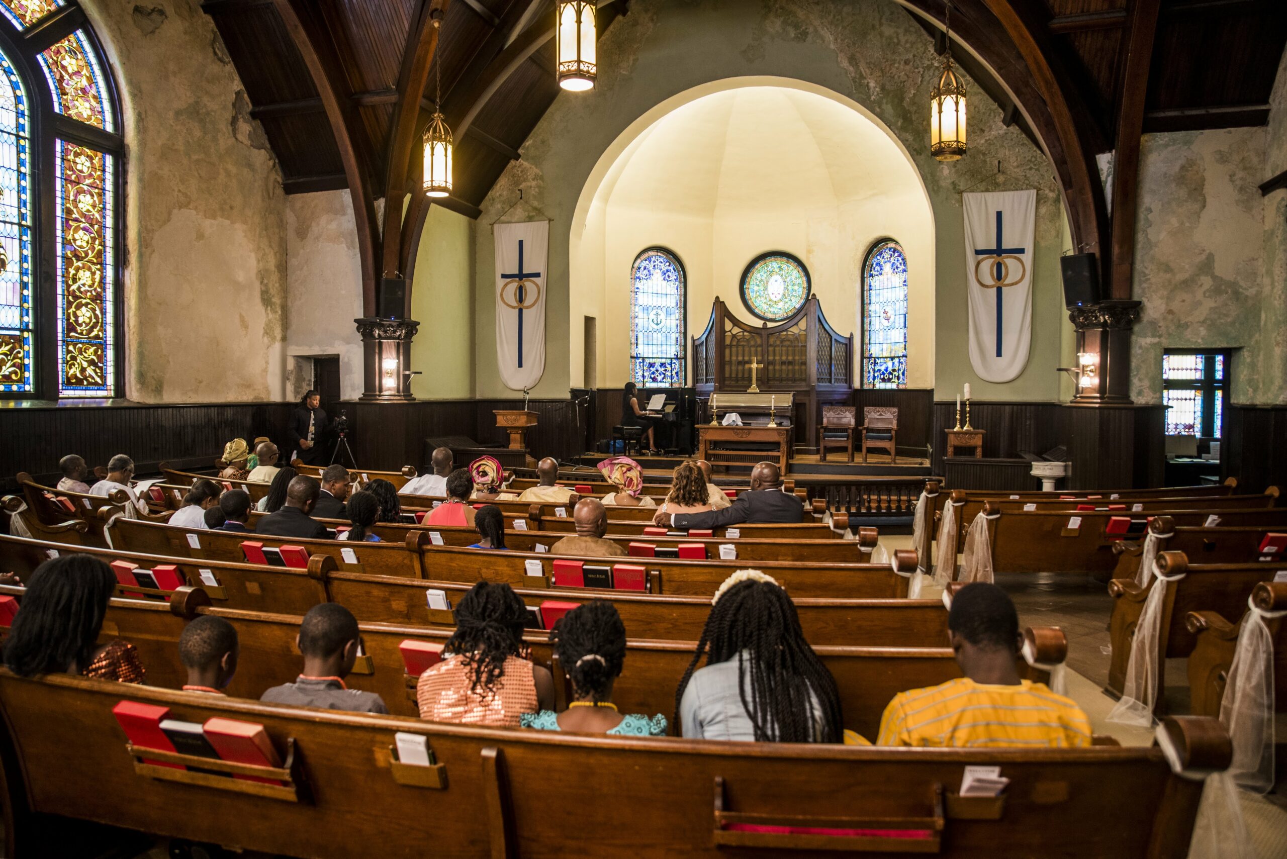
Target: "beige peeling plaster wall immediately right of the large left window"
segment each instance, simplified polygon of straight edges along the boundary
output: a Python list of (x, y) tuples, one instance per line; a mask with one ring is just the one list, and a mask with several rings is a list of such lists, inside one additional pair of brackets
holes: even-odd
[(197, 0), (85, 0), (121, 95), (125, 395), (284, 396), (286, 197)]

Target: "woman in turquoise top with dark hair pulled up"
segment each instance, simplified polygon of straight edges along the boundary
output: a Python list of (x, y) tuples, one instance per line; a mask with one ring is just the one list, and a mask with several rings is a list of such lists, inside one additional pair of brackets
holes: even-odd
[(622, 675), (625, 661), (625, 625), (613, 603), (595, 599), (573, 608), (559, 620), (555, 630), (555, 655), (566, 666), (573, 701), (560, 714), (552, 710), (524, 714), (520, 720), (524, 728), (625, 737), (665, 736), (665, 716), (623, 715), (613, 703), (613, 684)]

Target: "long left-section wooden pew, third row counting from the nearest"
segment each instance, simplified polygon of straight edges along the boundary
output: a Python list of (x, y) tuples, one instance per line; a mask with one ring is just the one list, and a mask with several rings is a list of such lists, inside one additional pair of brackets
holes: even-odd
[[(0, 536), (0, 572), (15, 572), (23, 581), (44, 563), (49, 550), (68, 547)], [(115, 549), (79, 548), (104, 562), (127, 561), (144, 570), (161, 563), (178, 567), (189, 586), (201, 588), (220, 608), (302, 615), (319, 602), (346, 606), (360, 621), (412, 626), (456, 625), (452, 611), (431, 611), (426, 589), (445, 592), (452, 606), (470, 589), (467, 583), (440, 583), (399, 576), (338, 572), (335, 558), (314, 556), (308, 570), (290, 570), (221, 561), (162, 558)], [(202, 577), (206, 574), (206, 577)], [(215, 584), (210, 584), (214, 579)], [(143, 593), (117, 588), (117, 593)], [(607, 599), (622, 615), (633, 638), (696, 640), (701, 635), (710, 599), (671, 597), (595, 588), (516, 588), (529, 606), (548, 599), (588, 602)], [(151, 593), (151, 592), (148, 592)], [(160, 595), (158, 595), (160, 598)], [(811, 599), (795, 598), (804, 635), (815, 644), (915, 647), (947, 640), (947, 612), (937, 599)]]

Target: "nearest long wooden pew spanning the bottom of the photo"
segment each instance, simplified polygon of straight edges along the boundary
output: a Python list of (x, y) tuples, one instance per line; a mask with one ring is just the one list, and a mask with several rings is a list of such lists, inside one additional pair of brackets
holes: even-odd
[[(291, 766), (274, 773), (286, 786), (138, 763), (111, 712), (122, 700), (167, 707), (185, 721), (263, 724), (283, 756), (295, 751)], [(882, 855), (915, 847), (949, 859), (1181, 859), (1201, 778), (1227, 768), (1230, 756), (1219, 723), (1196, 718), (1163, 725), (1192, 770), (1176, 774), (1156, 747), (902, 750), (607, 738), (6, 671), (0, 710), (9, 750), (4, 828), (8, 855), (19, 859), (60, 847), (31, 842), (37, 813), (315, 859), (562, 859), (571, 845), (587, 859), (716, 859), (848, 846), (820, 835), (735, 831), (734, 823), (883, 831), (844, 838)], [(391, 760), (395, 732), (423, 736), (438, 765)], [(956, 796), (967, 765), (1000, 766), (1010, 779), (1004, 799)], [(615, 796), (628, 796), (628, 808)], [(891, 837), (889, 829), (903, 828), (919, 842)], [(54, 838), (63, 837), (66, 829), (55, 831)]]

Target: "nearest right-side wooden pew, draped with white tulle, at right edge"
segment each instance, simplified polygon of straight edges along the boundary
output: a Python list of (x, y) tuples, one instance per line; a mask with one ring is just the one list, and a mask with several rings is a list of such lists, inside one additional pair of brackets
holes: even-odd
[[(1261, 581), (1251, 592), (1251, 601), (1260, 611), (1287, 611), (1287, 581)], [(1238, 634), (1250, 612), (1242, 612), (1241, 621), (1230, 622), (1218, 611), (1190, 611), (1184, 616), (1184, 628), (1194, 638), (1189, 653), (1189, 709), (1194, 715), (1220, 718), (1225, 680)], [(1265, 619), (1265, 626), (1274, 640), (1274, 711), (1287, 712), (1287, 622), (1282, 617)]]

